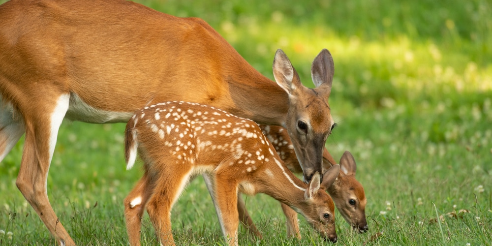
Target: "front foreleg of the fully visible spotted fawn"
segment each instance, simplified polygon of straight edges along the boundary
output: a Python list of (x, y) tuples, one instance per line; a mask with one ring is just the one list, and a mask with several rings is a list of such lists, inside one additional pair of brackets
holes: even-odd
[(218, 205), (218, 217), (222, 233), (229, 245), (238, 245), (238, 184), (230, 181), (225, 177), (216, 177), (215, 194)]

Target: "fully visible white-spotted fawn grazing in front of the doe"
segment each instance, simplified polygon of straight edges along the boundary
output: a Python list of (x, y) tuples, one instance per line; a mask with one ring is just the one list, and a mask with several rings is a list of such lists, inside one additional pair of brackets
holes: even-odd
[(238, 191), (274, 197), (304, 215), (323, 238), (337, 242), (335, 206), (324, 188), (335, 181), (339, 166), (326, 171), (321, 185), (318, 173), (303, 183), (253, 121), (197, 103), (158, 103), (128, 121), (124, 142), (127, 169), (137, 152), (144, 161), (143, 178), (124, 200), (131, 245), (140, 245), (144, 208), (160, 243), (174, 245), (171, 209), (197, 174), (215, 184), (212, 198), (229, 245), (238, 244)]

